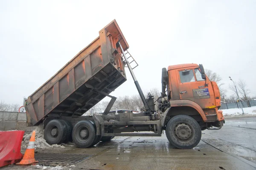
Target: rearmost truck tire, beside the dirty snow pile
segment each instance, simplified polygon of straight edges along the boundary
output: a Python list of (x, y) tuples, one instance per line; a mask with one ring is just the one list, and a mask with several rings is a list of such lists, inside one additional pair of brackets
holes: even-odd
[(61, 120), (51, 120), (44, 128), (44, 139), (48, 144), (61, 144), (67, 139), (67, 126)]

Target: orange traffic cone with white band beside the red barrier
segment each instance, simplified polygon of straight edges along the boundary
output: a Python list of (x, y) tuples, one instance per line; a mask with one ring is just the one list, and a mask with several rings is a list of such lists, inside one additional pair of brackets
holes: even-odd
[(35, 161), (35, 130), (32, 132), (32, 136), (29, 141), (29, 145), (26, 149), (26, 152), (22, 158), (22, 160), (17, 163), (18, 165), (27, 165), (36, 163), (38, 161)]

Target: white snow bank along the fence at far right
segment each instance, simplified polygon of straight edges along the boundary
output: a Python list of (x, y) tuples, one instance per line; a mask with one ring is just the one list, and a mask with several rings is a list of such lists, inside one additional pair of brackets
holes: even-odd
[[(256, 115), (256, 106), (253, 107), (246, 107), (243, 108), (244, 109), (244, 115)], [(242, 115), (242, 109), (241, 108), (233, 108), (233, 109), (223, 109), (223, 115), (224, 117), (226, 116), (230, 116), (230, 117), (234, 117), (234, 116), (240, 116)]]

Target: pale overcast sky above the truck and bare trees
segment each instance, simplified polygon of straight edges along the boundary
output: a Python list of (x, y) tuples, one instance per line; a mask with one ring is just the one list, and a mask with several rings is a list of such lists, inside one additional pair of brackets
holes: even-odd
[[(1, 0), (0, 100), (22, 104), (113, 19), (139, 63), (142, 89), (161, 89), (163, 67), (202, 63), (224, 88), (229, 76), (242, 78), (256, 95), (255, 0)], [(127, 78), (111, 95), (137, 94)]]

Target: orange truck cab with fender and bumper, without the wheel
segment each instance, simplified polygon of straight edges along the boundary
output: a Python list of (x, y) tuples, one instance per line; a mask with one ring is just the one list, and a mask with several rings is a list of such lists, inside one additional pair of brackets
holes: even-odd
[(179, 64), (169, 66), (166, 72), (163, 71), (162, 84), (166, 85), (171, 107), (167, 115), (170, 118), (180, 114), (192, 116), (201, 130), (210, 130), (212, 126), (220, 129), (224, 124), (222, 111), (219, 110), (220, 92), (216, 82), (210, 81), (204, 74), (204, 67), (194, 63)]

